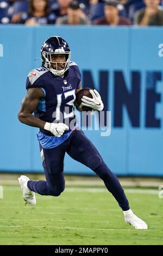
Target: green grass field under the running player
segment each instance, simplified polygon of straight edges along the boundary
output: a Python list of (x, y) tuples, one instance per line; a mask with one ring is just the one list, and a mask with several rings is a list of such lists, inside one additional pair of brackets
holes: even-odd
[(105, 188), (67, 187), (60, 197), (36, 194), (24, 205), (20, 187), (4, 186), (0, 245), (162, 245), (163, 199), (156, 190), (126, 189), (131, 209), (148, 230), (126, 224)]

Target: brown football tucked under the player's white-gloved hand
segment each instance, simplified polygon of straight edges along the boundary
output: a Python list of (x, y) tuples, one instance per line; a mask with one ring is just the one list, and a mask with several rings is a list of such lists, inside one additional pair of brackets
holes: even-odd
[(84, 88), (84, 89), (79, 90), (79, 92), (76, 94), (75, 105), (76, 105), (76, 108), (78, 109), (78, 111), (80, 111), (80, 112), (92, 111), (91, 107), (81, 106), (83, 96), (92, 98), (92, 94), (90, 93), (90, 90), (91, 90), (91, 88)]

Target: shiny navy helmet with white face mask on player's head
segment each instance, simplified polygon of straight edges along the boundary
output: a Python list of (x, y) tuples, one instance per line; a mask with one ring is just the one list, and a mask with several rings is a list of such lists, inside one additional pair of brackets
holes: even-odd
[[(71, 58), (70, 48), (64, 39), (59, 36), (48, 38), (41, 47), (41, 56), (42, 64), (51, 71), (53, 75), (64, 76), (64, 73), (69, 68)], [(57, 59), (57, 61), (55, 59)]]

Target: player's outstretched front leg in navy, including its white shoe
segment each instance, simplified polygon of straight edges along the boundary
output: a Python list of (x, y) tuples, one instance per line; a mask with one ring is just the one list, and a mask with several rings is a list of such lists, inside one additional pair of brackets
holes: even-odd
[(101, 155), (83, 131), (73, 133), (67, 153), (74, 160), (91, 168), (104, 181), (106, 188), (122, 208), (127, 223), (132, 224), (136, 229), (147, 229), (147, 224), (130, 210), (128, 199), (116, 175), (106, 166)]

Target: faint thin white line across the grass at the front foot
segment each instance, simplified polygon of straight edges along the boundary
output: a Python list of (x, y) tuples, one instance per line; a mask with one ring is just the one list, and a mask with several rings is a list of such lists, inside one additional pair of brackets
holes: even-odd
[[(0, 225), (2, 228), (24, 228), (23, 225)], [(26, 226), (27, 227), (27, 226)], [(73, 227), (45, 227), (45, 226), (33, 226), (33, 228), (54, 228), (54, 229), (81, 229), (81, 230), (102, 230), (102, 231), (135, 231), (135, 229), (115, 229), (115, 228), (73, 228)], [(145, 229), (147, 230), (147, 229)]]

